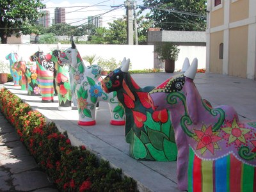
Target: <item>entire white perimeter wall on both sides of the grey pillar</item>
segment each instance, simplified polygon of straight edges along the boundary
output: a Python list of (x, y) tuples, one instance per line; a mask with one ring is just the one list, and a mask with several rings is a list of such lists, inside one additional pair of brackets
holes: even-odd
[[(38, 47), (45, 53), (56, 49), (57, 45), (47, 44), (0, 44), (0, 61), (8, 63), (5, 59), (12, 51), (17, 51), (19, 57), (29, 61), (29, 56), (38, 51)], [(61, 45), (61, 50), (67, 49), (71, 45)], [(132, 70), (154, 68), (154, 45), (79, 45), (77, 49), (81, 56), (96, 54), (104, 59), (115, 58), (116, 62), (122, 61), (124, 57), (130, 58)], [(184, 58), (188, 57), (192, 62), (193, 58), (198, 58), (198, 68), (205, 68), (206, 47), (205, 46), (179, 46), (179, 58), (175, 61), (175, 71), (182, 68)], [(161, 62), (161, 61), (159, 61)], [(86, 64), (86, 63), (85, 63)], [(87, 65), (87, 64), (86, 64)]]

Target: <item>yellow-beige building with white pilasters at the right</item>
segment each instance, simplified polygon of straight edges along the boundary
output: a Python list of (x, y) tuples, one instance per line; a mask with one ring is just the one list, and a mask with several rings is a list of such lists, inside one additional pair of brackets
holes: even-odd
[(256, 0), (208, 0), (206, 69), (256, 79)]

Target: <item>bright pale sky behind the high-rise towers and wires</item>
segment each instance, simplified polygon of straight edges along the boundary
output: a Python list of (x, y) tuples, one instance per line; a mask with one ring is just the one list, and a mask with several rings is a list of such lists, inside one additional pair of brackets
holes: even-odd
[[(79, 26), (87, 24), (88, 16), (97, 16), (102, 13), (103, 26), (108, 27), (108, 22), (121, 18), (125, 15), (125, 8), (118, 8), (115, 11), (108, 12), (114, 7), (124, 5), (125, 0), (44, 0), (42, 3), (46, 4), (46, 9), (49, 10), (51, 19), (54, 19), (54, 8), (65, 7), (66, 22), (72, 26)], [(142, 4), (143, 1), (137, 1), (137, 4)], [(89, 7), (83, 7), (89, 6)]]

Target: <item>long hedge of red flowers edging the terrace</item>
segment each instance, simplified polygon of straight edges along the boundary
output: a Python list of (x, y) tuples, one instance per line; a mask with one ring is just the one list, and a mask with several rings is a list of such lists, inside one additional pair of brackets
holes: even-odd
[(5, 88), (0, 91), (0, 109), (60, 191), (138, 191), (136, 181), (123, 177), (122, 170), (111, 168), (83, 145), (72, 146), (67, 132), (62, 134)]

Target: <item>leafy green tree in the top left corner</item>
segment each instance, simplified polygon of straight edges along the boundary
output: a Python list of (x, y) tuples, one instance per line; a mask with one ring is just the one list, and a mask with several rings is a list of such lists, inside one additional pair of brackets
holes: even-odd
[(0, 1), (0, 37), (1, 43), (6, 44), (8, 36), (20, 33), (28, 35), (33, 32), (31, 26), (35, 25), (40, 17), (38, 9), (45, 8), (40, 0), (1, 0)]

